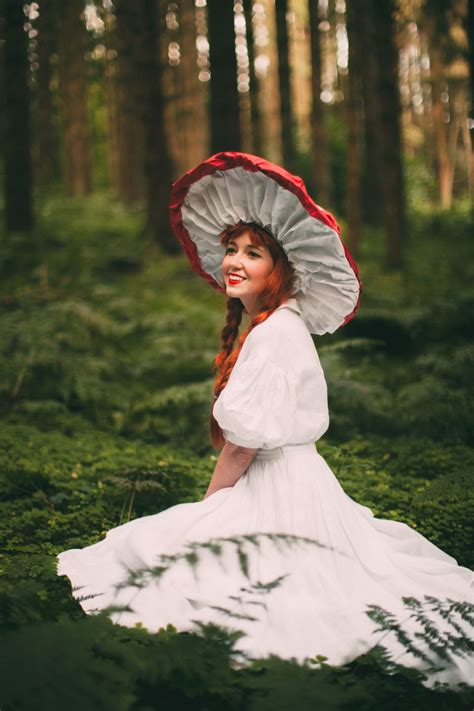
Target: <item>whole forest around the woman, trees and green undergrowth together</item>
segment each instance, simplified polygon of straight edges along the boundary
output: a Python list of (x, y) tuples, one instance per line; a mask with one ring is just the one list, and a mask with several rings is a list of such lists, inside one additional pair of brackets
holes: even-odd
[(359, 267), (356, 317), (314, 337), (318, 451), (474, 567), (473, 48), (474, 0), (0, 3), (2, 710), (472, 709), (379, 646), (244, 666), (232, 626), (86, 616), (55, 556), (206, 491), (225, 299), (169, 195), (231, 150), (301, 176)]

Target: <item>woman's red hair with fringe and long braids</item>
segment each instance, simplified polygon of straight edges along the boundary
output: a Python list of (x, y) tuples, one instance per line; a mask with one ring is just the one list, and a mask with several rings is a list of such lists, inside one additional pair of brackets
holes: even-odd
[[(254, 244), (267, 247), (273, 260), (273, 269), (268, 276), (265, 288), (259, 295), (261, 303), (260, 311), (250, 321), (247, 330), (238, 339), (236, 348), (234, 348), (234, 344), (239, 334), (244, 306), (238, 298), (228, 297), (227, 299), (227, 318), (221, 334), (222, 349), (216, 355), (213, 364), (213, 369), (217, 370), (216, 382), (214, 384), (214, 402), (227, 385), (232, 368), (250, 331), (265, 321), (282, 303), (291, 298), (294, 292), (295, 272), (288, 261), (286, 253), (283, 248), (280, 247), (276, 239), (260, 225), (252, 222), (239, 222), (236, 225), (226, 227), (220, 234), (221, 244), (227, 245), (231, 239), (238, 237), (244, 232), (249, 233)], [(212, 411), (210, 418), (210, 435), (214, 449), (218, 449), (225, 443), (222, 430), (212, 414)]]

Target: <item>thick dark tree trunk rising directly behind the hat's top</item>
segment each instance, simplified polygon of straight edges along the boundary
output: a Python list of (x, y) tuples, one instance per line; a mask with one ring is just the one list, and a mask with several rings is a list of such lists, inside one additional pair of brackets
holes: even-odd
[(211, 151), (239, 151), (242, 139), (234, 3), (232, 0), (208, 0), (207, 18), (211, 58)]

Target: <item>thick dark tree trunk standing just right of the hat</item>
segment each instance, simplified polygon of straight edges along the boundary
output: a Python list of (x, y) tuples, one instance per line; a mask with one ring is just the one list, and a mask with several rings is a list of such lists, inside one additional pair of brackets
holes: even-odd
[(381, 183), (387, 233), (387, 267), (402, 266), (406, 235), (405, 186), (400, 125), (398, 50), (395, 44), (394, 0), (373, 4), (377, 33), (379, 135), (381, 136)]

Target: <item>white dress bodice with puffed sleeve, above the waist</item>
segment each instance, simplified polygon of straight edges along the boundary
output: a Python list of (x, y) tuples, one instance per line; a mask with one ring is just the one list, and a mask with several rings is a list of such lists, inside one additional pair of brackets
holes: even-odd
[(213, 414), (227, 441), (249, 448), (314, 442), (326, 432), (326, 380), (296, 299), (249, 333)]

